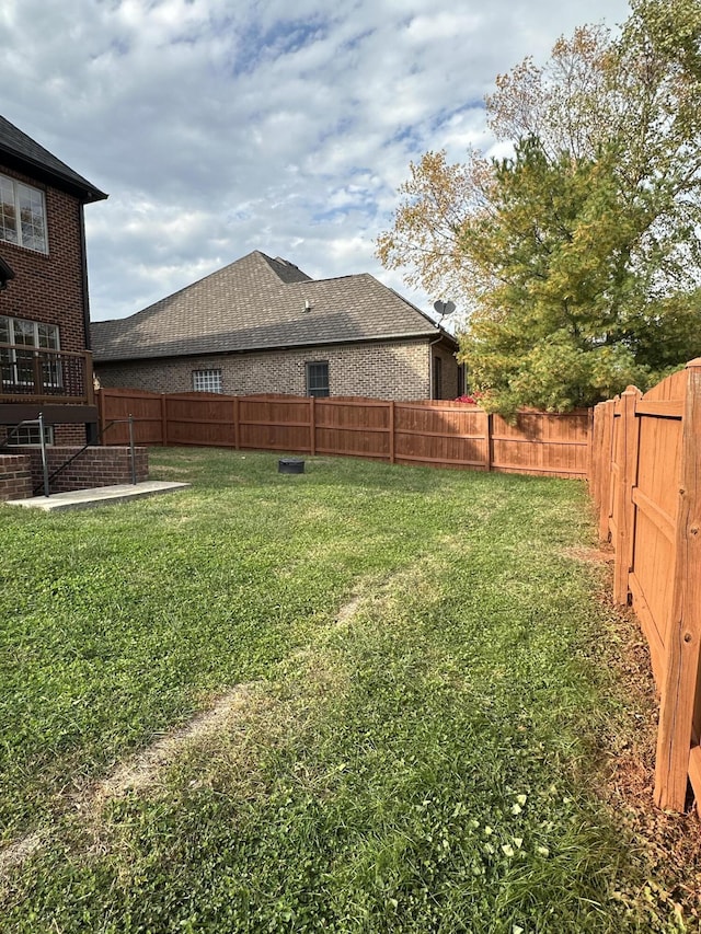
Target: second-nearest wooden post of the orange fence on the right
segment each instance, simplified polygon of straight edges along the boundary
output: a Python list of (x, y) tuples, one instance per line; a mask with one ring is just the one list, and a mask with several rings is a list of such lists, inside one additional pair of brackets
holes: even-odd
[(640, 391), (629, 385), (621, 395), (621, 423), (619, 425), (619, 491), (617, 501), (616, 562), (613, 565), (613, 600), (628, 603), (628, 576), (633, 557), (633, 487), (637, 481), (637, 438), (640, 422), (635, 417), (635, 402)]

